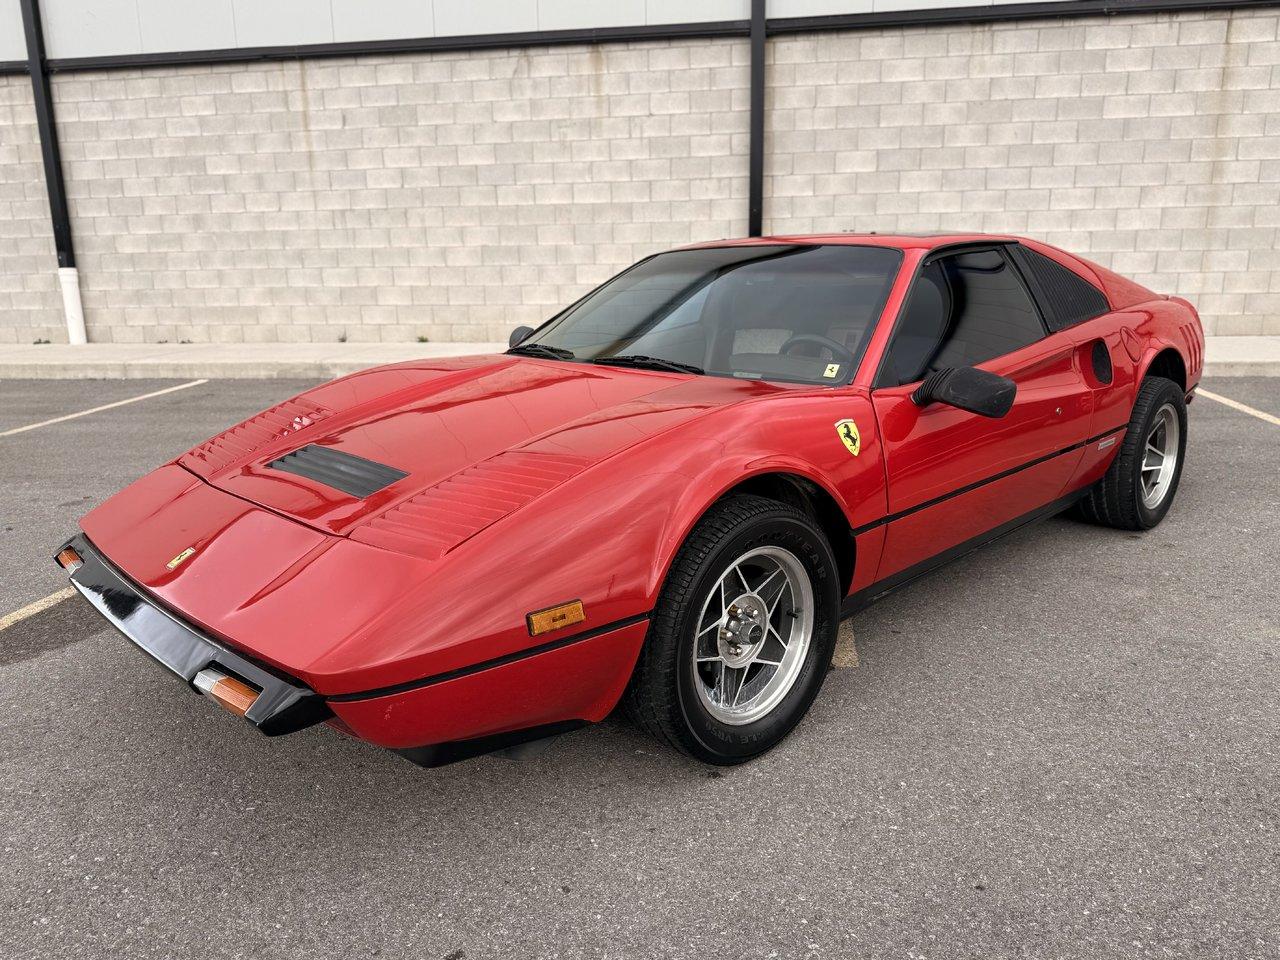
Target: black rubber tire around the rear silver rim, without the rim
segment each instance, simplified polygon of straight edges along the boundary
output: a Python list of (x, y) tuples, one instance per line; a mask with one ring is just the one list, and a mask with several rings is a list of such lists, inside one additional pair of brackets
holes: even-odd
[[(1178, 422), (1178, 461), (1174, 463), (1171, 483), (1164, 495), (1149, 506), (1143, 502), (1142, 467), (1147, 435), (1156, 417), (1165, 407), (1171, 407)], [(1094, 484), (1088, 495), (1075, 506), (1075, 515), (1091, 524), (1111, 526), (1116, 530), (1151, 530), (1169, 512), (1178, 493), (1187, 453), (1187, 399), (1183, 389), (1162, 376), (1148, 376), (1138, 388), (1138, 399), (1129, 416), (1129, 426), (1120, 451), (1106, 475)]]

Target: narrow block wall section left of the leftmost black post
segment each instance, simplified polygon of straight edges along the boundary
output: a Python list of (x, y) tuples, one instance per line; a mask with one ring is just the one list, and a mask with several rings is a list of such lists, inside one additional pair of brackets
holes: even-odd
[(0, 344), (65, 340), (58, 255), (27, 77), (0, 77)]

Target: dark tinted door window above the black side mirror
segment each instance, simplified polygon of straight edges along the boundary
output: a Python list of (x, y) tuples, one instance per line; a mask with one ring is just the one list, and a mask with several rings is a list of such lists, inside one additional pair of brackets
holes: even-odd
[(920, 271), (893, 328), (881, 384), (982, 364), (1043, 337), (1039, 311), (1001, 251), (938, 257)]

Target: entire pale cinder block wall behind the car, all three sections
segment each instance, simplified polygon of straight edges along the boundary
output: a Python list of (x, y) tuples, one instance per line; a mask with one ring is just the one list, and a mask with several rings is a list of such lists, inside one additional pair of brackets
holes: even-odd
[[(769, 41), (765, 229), (1027, 233), (1280, 334), (1280, 13)], [(746, 230), (748, 44), (54, 77), (90, 338), (502, 339)], [(64, 339), (0, 78), (0, 343)]]

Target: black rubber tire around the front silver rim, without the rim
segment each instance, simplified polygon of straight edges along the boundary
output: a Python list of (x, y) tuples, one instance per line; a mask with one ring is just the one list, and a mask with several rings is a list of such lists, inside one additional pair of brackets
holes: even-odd
[[(759, 719), (730, 724), (710, 713), (694, 686), (692, 645), (703, 604), (721, 576), (759, 547), (780, 547), (800, 561), (813, 590), (813, 630), (786, 695)], [(751, 495), (716, 504), (667, 575), (623, 699), (627, 713), (657, 740), (704, 763), (744, 763), (769, 750), (808, 713), (822, 689), (840, 623), (837, 581), (831, 545), (803, 511)]]

